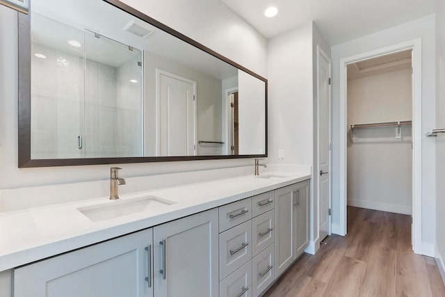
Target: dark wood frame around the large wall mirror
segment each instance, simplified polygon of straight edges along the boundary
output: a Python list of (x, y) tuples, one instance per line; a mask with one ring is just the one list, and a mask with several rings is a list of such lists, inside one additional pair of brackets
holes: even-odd
[(245, 154), (245, 155), (213, 155), (213, 156), (137, 156), (137, 157), (116, 157), (116, 158), (79, 158), (79, 159), (31, 159), (31, 13), (24, 15), (18, 13), (19, 30), (19, 122), (18, 122), (18, 166), (19, 168), (50, 167), (50, 166), (78, 166), (95, 164), (118, 164), (118, 163), (145, 163), (145, 162), (165, 162), (165, 161), (193, 161), (211, 159), (242, 159), (267, 157), (267, 88), (268, 81), (264, 77), (246, 69), (229, 58), (218, 54), (216, 51), (188, 38), (186, 35), (165, 26), (161, 22), (152, 19), (140, 11), (124, 4), (118, 0), (103, 0), (106, 3), (124, 10), (125, 12), (138, 17), (143, 21), (158, 27), (159, 29), (174, 35), (176, 38), (187, 42), (208, 54), (223, 60), (230, 65), (237, 67), (253, 77), (265, 83), (265, 103), (266, 103), (266, 131), (265, 133), (265, 154)]

